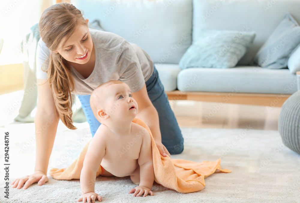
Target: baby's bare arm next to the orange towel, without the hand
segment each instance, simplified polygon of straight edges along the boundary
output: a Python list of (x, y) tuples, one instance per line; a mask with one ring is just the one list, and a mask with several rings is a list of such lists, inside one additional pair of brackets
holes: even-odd
[(143, 141), (138, 158), (140, 165), (140, 186), (152, 188), (154, 182), (154, 169), (152, 160), (151, 137), (148, 131), (143, 133)]

